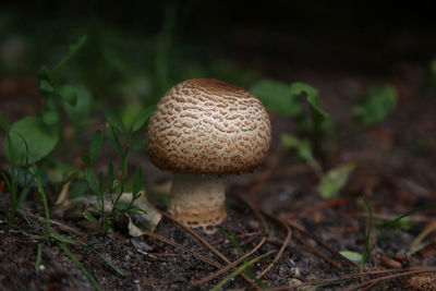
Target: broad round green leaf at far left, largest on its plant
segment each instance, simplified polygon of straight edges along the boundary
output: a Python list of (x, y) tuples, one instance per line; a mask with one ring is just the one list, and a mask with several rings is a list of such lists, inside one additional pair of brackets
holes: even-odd
[[(58, 144), (59, 131), (57, 126), (49, 126), (37, 117), (27, 117), (12, 124), (10, 129), (11, 144), (14, 150), (15, 165), (26, 163), (28, 148), (28, 163), (34, 163), (47, 156)], [(25, 138), (24, 143), (22, 136)], [(5, 147), (5, 155), (11, 161), (11, 153)]]

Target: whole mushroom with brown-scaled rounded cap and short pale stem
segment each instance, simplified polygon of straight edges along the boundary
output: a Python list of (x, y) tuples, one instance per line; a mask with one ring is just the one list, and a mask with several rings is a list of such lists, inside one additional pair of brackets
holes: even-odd
[(168, 213), (215, 232), (226, 217), (225, 175), (253, 171), (265, 158), (271, 126), (247, 90), (211, 78), (173, 86), (148, 123), (152, 162), (174, 173)]

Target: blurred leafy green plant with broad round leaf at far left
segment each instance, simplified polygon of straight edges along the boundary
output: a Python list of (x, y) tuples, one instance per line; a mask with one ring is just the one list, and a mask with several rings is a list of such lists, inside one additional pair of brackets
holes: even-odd
[[(90, 110), (90, 95), (84, 88), (62, 84), (60, 76), (66, 63), (85, 41), (86, 36), (71, 46), (66, 56), (52, 70), (46, 65), (40, 68), (38, 84), (43, 95), (43, 110), (35, 110), (35, 116), (25, 117), (10, 126), (9, 142), (4, 145), (9, 161), (12, 159), (10, 147), (14, 149), (16, 166), (34, 163), (49, 155), (61, 141), (63, 112), (70, 118), (74, 132), (80, 132)], [(21, 136), (26, 137), (27, 145)]]

